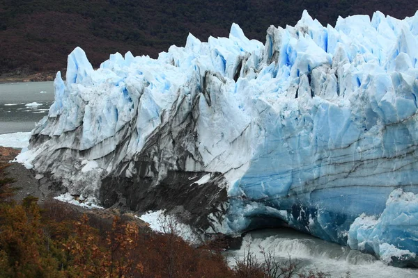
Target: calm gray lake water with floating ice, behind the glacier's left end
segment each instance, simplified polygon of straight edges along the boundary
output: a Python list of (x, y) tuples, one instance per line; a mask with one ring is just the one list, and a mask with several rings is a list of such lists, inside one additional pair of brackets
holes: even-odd
[[(38, 107), (25, 104), (37, 102)], [(54, 102), (54, 82), (0, 84), (0, 134), (31, 131)]]

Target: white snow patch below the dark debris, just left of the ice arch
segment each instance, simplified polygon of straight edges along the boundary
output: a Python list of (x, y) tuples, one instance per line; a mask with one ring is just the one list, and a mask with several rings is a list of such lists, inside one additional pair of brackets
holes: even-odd
[(199, 236), (189, 225), (181, 223), (176, 216), (165, 214), (164, 210), (148, 211), (137, 218), (150, 224), (153, 231), (164, 234), (173, 232), (189, 243), (199, 243)]

